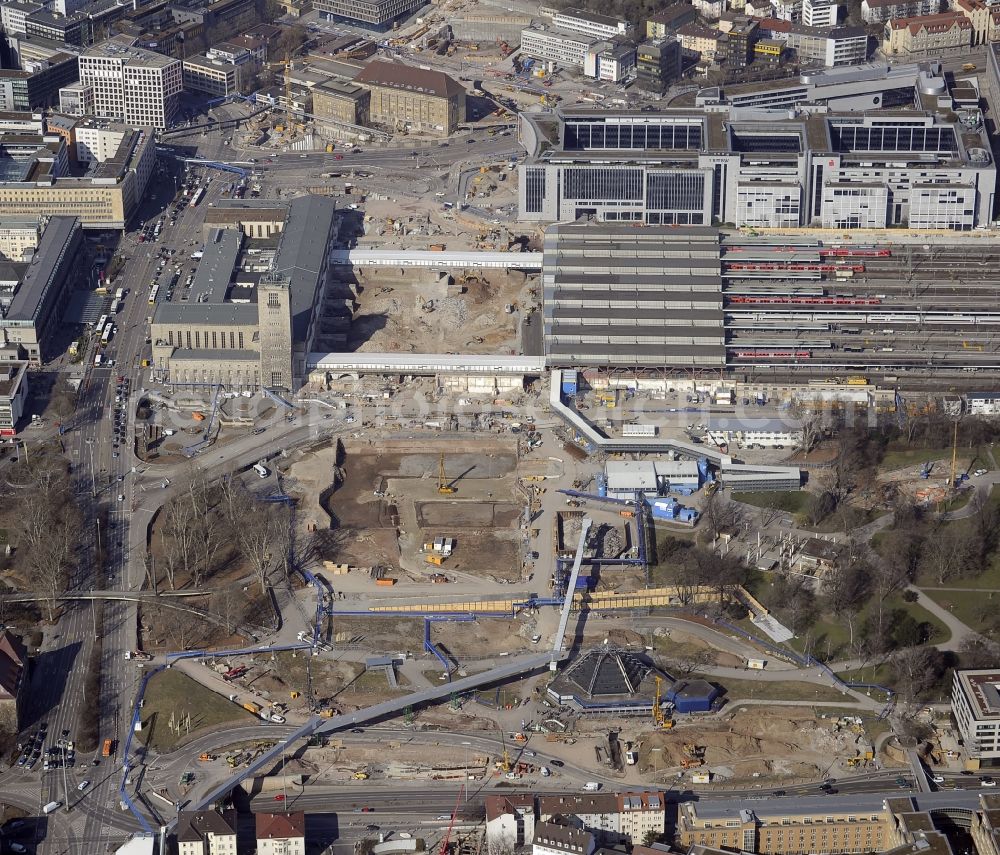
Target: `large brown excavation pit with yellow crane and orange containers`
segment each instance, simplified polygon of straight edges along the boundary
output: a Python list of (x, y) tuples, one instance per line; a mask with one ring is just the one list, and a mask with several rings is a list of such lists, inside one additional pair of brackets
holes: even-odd
[[(349, 439), (339, 469), (335, 444), (291, 464), (289, 489), (303, 499), (300, 518), (306, 526), (334, 529), (335, 549), (321, 557), (362, 568), (336, 579), (338, 590), (394, 595), (408, 579), (427, 582), (435, 574), (520, 578), (515, 444), (449, 440), (440, 447), (447, 450), (446, 480), (456, 489), (446, 496), (437, 490), (440, 456), (433, 441), (389, 440), (376, 449)], [(342, 479), (331, 492), (338, 471)], [(379, 486), (383, 497), (375, 495)], [(429, 564), (422, 549), (435, 537), (455, 540), (441, 566)], [(400, 585), (378, 587), (363, 570), (371, 567), (386, 568)]]

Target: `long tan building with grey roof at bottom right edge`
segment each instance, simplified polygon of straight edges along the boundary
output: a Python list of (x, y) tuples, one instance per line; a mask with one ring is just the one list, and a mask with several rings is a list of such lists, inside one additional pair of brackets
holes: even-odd
[(831, 800), (773, 799), (752, 807), (738, 800), (687, 802), (677, 809), (677, 843), (759, 855), (882, 852), (900, 842), (881, 795)]

